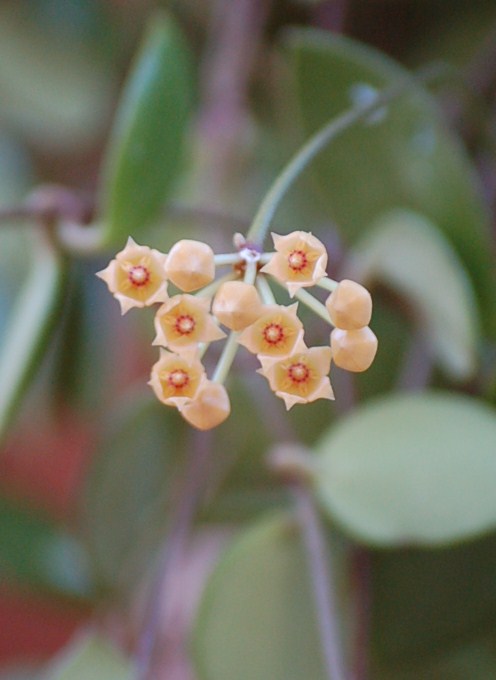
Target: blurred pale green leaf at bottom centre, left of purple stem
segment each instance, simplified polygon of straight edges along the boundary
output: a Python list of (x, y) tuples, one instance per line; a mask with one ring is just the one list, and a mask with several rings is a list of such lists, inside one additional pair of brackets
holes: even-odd
[(288, 517), (240, 534), (210, 578), (194, 630), (201, 680), (323, 680), (306, 558)]

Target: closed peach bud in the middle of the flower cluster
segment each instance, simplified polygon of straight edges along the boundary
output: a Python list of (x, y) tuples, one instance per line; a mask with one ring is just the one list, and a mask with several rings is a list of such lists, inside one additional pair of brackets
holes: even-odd
[(217, 291), (212, 313), (232, 331), (241, 331), (254, 323), (263, 312), (255, 286), (244, 281), (226, 281)]

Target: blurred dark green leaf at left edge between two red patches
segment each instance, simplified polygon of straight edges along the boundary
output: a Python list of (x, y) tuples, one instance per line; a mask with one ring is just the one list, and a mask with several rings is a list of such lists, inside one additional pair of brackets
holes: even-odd
[(67, 532), (0, 498), (0, 574), (72, 598), (91, 596), (86, 555)]

